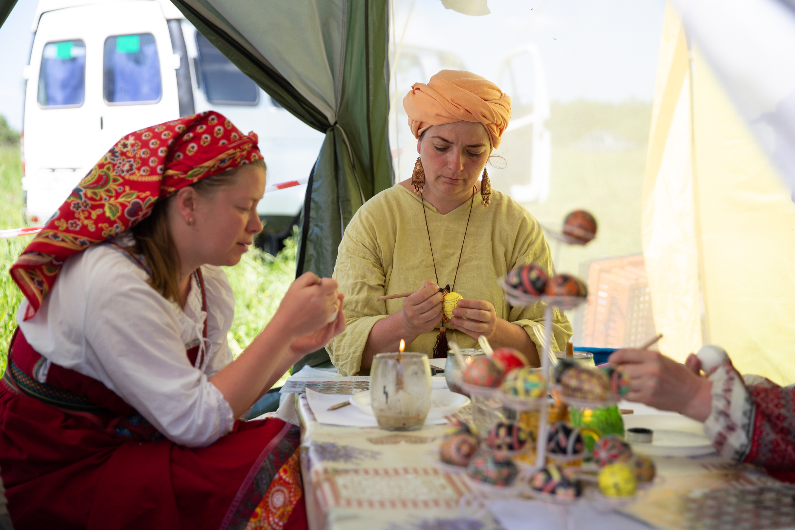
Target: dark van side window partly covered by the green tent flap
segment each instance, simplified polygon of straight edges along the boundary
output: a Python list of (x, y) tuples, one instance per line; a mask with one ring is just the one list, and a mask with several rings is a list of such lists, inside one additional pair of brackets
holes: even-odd
[(207, 38), (196, 32), (199, 69), (204, 95), (210, 103), (221, 105), (256, 105), (259, 90), (240, 69), (232, 64)]

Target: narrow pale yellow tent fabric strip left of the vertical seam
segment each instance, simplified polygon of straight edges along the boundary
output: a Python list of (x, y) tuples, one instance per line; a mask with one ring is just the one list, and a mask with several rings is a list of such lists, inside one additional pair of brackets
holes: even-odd
[(642, 242), (660, 350), (677, 360), (701, 346), (696, 203), (688, 47), (666, 6), (649, 154), (642, 195)]

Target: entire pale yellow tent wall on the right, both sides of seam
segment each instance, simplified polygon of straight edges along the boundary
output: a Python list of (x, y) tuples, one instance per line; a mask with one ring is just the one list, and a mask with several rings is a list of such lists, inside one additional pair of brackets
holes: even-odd
[(723, 346), (795, 382), (795, 204), (708, 57), (667, 7), (642, 203), (660, 350)]

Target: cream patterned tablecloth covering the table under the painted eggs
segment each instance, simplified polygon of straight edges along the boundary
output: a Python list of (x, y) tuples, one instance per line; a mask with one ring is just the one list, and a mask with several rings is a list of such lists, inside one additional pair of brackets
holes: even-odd
[[(498, 520), (490, 513), (479, 519), (462, 516), (459, 499), (471, 488), (460, 474), (445, 473), (427, 456), (432, 448), (429, 443), (440, 439), (448, 425), (426, 425), (411, 432), (324, 425), (316, 421), (305, 394), (296, 399), (303, 442), (301, 471), (312, 530), (559, 528), (554, 520), (542, 524), (540, 513), (538, 524), (533, 522), (533, 510), (544, 508), (534, 501), (502, 501), (514, 505), (503, 504), (505, 516), (496, 513)], [(470, 405), (463, 408), (455, 419), (467, 419), (469, 408)], [(692, 497), (696, 491), (693, 488), (703, 492), (775, 483), (751, 466), (737, 466), (715, 454), (654, 460), (663, 477), (661, 485), (624, 510), (633, 519), (591, 511), (580, 515), (583, 523), (588, 521), (587, 528), (603, 528), (600, 518), (614, 530), (648, 528), (646, 524), (657, 528), (696, 528), (683, 520), (683, 503)], [(520, 516), (517, 522), (515, 514), (525, 512), (529, 516), (523, 521)]]

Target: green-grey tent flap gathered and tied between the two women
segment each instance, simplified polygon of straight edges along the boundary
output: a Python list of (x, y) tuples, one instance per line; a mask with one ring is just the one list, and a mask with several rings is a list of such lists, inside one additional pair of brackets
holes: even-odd
[[(173, 0), (281, 106), (326, 133), (301, 213), (297, 276), (330, 277), (355, 211), (392, 185), (384, 0)], [(312, 364), (328, 359), (324, 350)]]

